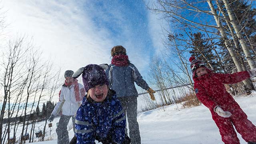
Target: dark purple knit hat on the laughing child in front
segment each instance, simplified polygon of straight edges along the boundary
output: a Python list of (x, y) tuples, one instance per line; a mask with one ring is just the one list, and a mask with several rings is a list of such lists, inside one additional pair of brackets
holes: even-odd
[(82, 73), (82, 80), (84, 83), (84, 89), (86, 92), (90, 88), (97, 86), (98, 84), (106, 84), (108, 86), (108, 78), (105, 70), (97, 64), (88, 64), (84, 67)]

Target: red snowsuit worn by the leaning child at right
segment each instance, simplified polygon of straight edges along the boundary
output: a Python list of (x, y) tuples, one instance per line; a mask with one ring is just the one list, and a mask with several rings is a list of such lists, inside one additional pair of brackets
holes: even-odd
[[(212, 113), (212, 119), (220, 130), (225, 144), (240, 144), (236, 132), (242, 135), (246, 142), (256, 142), (256, 127), (240, 108), (234, 98), (226, 91), (224, 84), (234, 84), (250, 78), (247, 71), (234, 74), (218, 74), (207, 69), (208, 74), (193, 77), (196, 96)], [(224, 111), (231, 112), (230, 118), (223, 118), (214, 112), (214, 107), (220, 106)], [(233, 124), (233, 125), (232, 125)]]

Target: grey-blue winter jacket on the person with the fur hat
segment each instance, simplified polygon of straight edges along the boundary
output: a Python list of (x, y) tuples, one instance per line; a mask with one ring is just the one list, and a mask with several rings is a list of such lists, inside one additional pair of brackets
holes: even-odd
[(106, 70), (109, 80), (109, 86), (116, 91), (117, 97), (138, 96), (134, 82), (144, 90), (147, 90), (148, 84), (142, 79), (140, 72), (130, 63), (128, 66), (115, 66), (110, 64)]

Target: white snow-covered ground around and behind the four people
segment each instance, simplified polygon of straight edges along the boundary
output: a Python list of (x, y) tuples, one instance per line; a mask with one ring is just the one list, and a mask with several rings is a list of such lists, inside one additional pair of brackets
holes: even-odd
[[(248, 119), (256, 125), (256, 92), (248, 97), (236, 97), (235, 100), (246, 112)], [(142, 144), (223, 144), (210, 111), (205, 106), (181, 107), (180, 104), (173, 104), (139, 113)], [(56, 122), (58, 118), (53, 122), (51, 141), (33, 144), (56, 144)], [(71, 139), (74, 133), (70, 127), (68, 129)], [(241, 144), (247, 144), (240, 134), (238, 138)]]

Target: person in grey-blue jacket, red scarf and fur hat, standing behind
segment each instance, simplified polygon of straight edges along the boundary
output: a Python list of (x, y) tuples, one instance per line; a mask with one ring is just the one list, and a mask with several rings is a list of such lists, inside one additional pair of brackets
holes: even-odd
[[(120, 100), (129, 125), (129, 135), (131, 144), (140, 144), (140, 130), (137, 122), (137, 97), (138, 92), (134, 82), (150, 94), (150, 98), (155, 100), (155, 91), (152, 90), (134, 64), (130, 63), (123, 46), (114, 46), (111, 50), (111, 64), (106, 70), (109, 85), (116, 91), (116, 96)], [(127, 129), (126, 129), (127, 133)]]

